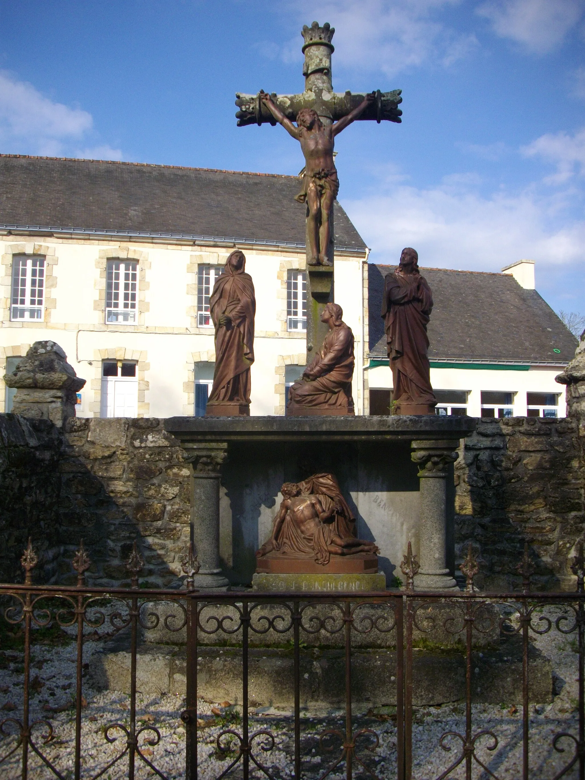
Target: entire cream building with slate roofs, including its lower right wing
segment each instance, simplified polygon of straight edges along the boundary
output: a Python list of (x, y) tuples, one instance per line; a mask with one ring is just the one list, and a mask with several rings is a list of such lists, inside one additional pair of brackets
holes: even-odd
[[(0, 155), (0, 378), (52, 339), (78, 376), (80, 417), (203, 414), (214, 369), (209, 294), (235, 248), (257, 300), (254, 415), (285, 413), (306, 364), (305, 207), (295, 176)], [(384, 276), (335, 204), (335, 301), (356, 340), (356, 413), (388, 413)], [(424, 258), (421, 258), (424, 261)], [(555, 375), (576, 339), (504, 274), (423, 268), (438, 413), (565, 414)], [(12, 391), (0, 379), (0, 409)]]

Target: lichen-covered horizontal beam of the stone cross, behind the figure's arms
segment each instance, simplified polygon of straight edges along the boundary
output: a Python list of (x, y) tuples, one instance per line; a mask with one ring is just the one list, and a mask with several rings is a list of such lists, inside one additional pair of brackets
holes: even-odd
[[(402, 111), (398, 108), (399, 104), (402, 103), (401, 92), (402, 90), (393, 90), (392, 92), (381, 92), (378, 90), (376, 92), (376, 100), (366, 108), (356, 121), (360, 122), (363, 119), (370, 119), (375, 120), (378, 124), (382, 120), (402, 122), (402, 119), (400, 119)], [(333, 122), (336, 122), (342, 116), (347, 116), (354, 108), (357, 108), (363, 101), (365, 94), (353, 94), (349, 91), (333, 94), (324, 92), (319, 97), (320, 99), (317, 100), (317, 96), (312, 92), (303, 92), (296, 95), (271, 94), (272, 101), (291, 122), (295, 121), (296, 115), (301, 108), (315, 108), (320, 115), (328, 115)], [(237, 92), (236, 105), (239, 108), (239, 111), (236, 112), (238, 127), (261, 125), (265, 122), (269, 122), (271, 125), (276, 124), (276, 119), (261, 101), (260, 93), (250, 95)]]

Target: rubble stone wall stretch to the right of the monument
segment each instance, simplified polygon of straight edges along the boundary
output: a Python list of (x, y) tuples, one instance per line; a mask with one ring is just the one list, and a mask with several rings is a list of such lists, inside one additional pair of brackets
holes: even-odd
[(585, 521), (582, 447), (571, 418), (482, 419), (466, 438), (455, 464), (456, 564), (471, 541), (479, 554), (478, 587), (518, 587), (525, 542), (534, 587), (574, 587), (569, 557)]

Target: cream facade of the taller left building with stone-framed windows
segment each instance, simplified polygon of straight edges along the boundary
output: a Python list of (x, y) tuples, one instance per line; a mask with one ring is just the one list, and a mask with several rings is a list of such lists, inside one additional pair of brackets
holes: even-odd
[[(215, 361), (209, 291), (229, 252), (144, 241), (30, 238), (0, 241), (2, 375), (33, 342), (51, 339), (87, 379), (79, 417), (204, 414)], [(257, 300), (250, 413), (282, 415), (286, 385), (307, 362), (305, 254), (238, 248), (246, 254)], [(366, 285), (365, 257), (335, 258), (335, 300), (356, 338), (358, 413), (363, 413)], [(306, 294), (305, 289), (305, 300)], [(12, 396), (1, 384), (0, 404), (8, 411)]]

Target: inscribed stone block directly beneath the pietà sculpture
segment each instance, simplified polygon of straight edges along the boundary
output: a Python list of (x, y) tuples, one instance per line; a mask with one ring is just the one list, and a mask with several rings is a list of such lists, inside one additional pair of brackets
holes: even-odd
[(385, 574), (261, 574), (252, 577), (259, 593), (332, 593), (386, 590)]

